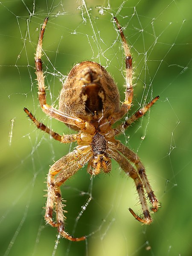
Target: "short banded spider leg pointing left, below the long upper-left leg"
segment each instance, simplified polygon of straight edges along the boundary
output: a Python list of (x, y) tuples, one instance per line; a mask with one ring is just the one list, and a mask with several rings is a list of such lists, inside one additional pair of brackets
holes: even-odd
[(34, 124), (37, 126), (38, 129), (41, 129), (42, 131), (49, 134), (53, 139), (60, 141), (61, 143), (71, 143), (77, 140), (78, 134), (70, 134), (70, 135), (59, 135), (55, 131), (52, 131), (49, 129), (46, 125), (44, 125), (42, 122), (39, 122), (35, 116), (27, 109), (24, 108), (25, 113), (29, 116), (29, 118), (34, 122)]

